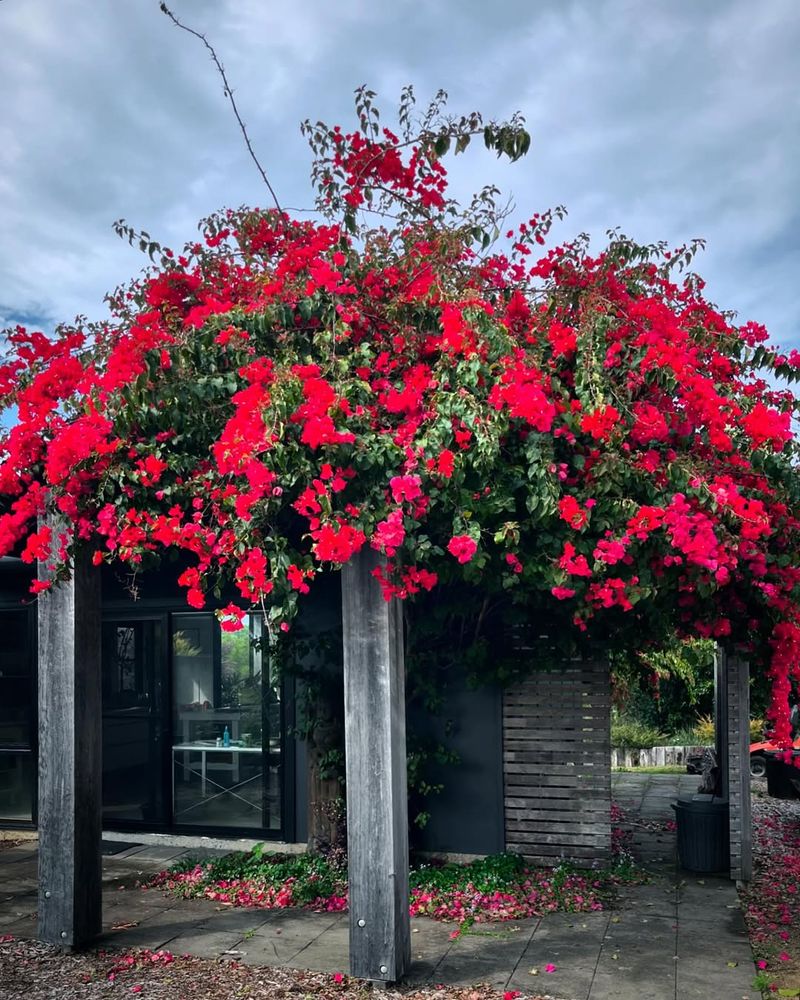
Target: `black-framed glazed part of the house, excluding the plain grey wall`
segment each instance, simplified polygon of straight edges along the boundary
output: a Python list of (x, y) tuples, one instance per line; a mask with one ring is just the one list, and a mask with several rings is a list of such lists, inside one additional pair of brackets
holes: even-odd
[[(0, 825), (36, 823), (36, 604), (30, 567), (0, 561)], [(302, 745), (291, 684), (247, 630), (188, 609), (166, 578), (134, 600), (103, 577), (103, 824), (106, 829), (305, 835)]]

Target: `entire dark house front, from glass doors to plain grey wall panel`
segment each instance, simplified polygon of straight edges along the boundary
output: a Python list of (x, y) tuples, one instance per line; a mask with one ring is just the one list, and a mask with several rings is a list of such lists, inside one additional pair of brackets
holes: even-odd
[[(104, 829), (304, 842), (307, 757), (297, 736), (296, 682), (278, 676), (251, 641), (260, 635), (259, 615), (246, 630), (225, 632), (212, 612), (187, 608), (171, 582), (176, 575), (147, 577), (132, 595), (104, 570)], [(36, 825), (31, 576), (21, 561), (0, 560), (0, 827)], [(307, 609), (312, 631), (315, 622), (334, 621), (339, 601), (337, 589)], [(432, 738), (449, 721), (459, 758), (444, 767), (441, 793), (426, 803), (419, 846), (503, 850), (501, 702), (498, 691), (453, 688), (441, 718), (410, 719)]]

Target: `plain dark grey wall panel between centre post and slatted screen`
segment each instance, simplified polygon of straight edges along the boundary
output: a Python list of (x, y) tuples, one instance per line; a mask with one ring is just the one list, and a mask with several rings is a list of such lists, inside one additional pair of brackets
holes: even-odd
[[(453, 731), (444, 735), (447, 720)], [(503, 830), (502, 699), (498, 688), (448, 687), (440, 715), (415, 710), (409, 725), (458, 753), (458, 764), (431, 768), (444, 788), (429, 796), (430, 820), (415, 840), (423, 850), (495, 854), (505, 848)]]

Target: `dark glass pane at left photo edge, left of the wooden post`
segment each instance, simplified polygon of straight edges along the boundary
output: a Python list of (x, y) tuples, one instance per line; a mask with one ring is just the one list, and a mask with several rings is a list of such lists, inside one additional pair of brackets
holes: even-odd
[(31, 823), (36, 774), (32, 615), (0, 610), (0, 824)]

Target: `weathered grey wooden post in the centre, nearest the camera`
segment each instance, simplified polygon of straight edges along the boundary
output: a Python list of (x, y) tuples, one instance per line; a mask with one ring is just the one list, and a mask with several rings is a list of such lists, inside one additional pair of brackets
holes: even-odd
[(350, 972), (396, 982), (411, 961), (402, 612), (371, 549), (342, 570)]

